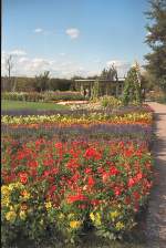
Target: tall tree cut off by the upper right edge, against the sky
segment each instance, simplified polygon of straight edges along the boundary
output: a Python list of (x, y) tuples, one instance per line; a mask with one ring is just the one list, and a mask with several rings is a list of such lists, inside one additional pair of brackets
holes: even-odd
[(145, 55), (145, 69), (152, 75), (152, 82), (166, 94), (166, 0), (149, 0), (149, 3), (146, 16), (152, 24), (146, 27), (146, 43), (152, 52)]

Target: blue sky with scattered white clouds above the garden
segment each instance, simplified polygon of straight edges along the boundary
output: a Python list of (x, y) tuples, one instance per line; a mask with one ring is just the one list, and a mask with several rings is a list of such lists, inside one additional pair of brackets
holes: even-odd
[(144, 63), (147, 0), (3, 0), (2, 71), (93, 75), (114, 63), (120, 75)]

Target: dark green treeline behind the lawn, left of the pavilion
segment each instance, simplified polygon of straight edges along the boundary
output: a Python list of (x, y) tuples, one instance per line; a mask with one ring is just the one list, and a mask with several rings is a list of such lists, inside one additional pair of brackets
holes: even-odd
[(43, 76), (35, 78), (19, 78), (8, 76), (1, 78), (2, 92), (42, 92), (42, 91), (70, 91), (75, 90), (74, 80), (66, 79), (44, 79)]

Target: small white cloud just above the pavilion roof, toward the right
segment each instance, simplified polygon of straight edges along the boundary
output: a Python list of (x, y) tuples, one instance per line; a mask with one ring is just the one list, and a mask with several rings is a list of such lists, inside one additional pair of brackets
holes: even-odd
[(124, 76), (126, 75), (127, 71), (131, 68), (131, 63), (128, 61), (122, 61), (122, 60), (110, 60), (106, 62), (106, 65), (110, 68), (113, 65), (117, 69), (117, 75)]

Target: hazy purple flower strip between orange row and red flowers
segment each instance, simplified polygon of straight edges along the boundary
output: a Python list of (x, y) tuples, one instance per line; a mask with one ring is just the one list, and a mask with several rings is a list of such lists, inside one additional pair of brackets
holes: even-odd
[(141, 124), (91, 124), (91, 125), (45, 125), (31, 124), (27, 125), (1, 126), (3, 137), (12, 137), (20, 143), (25, 141), (35, 141), (40, 137), (46, 140), (58, 140), (60, 142), (77, 141), (133, 141), (137, 143), (146, 142), (151, 144), (152, 127), (151, 125)]

